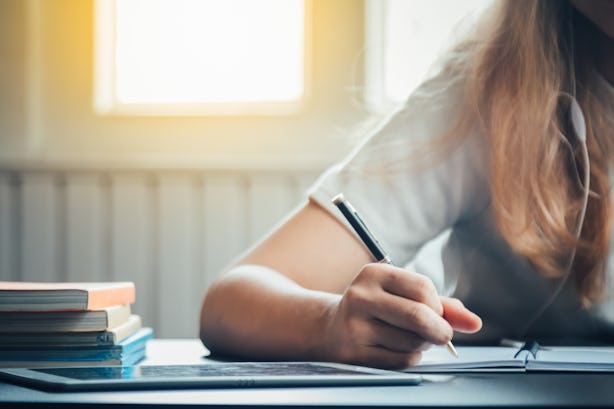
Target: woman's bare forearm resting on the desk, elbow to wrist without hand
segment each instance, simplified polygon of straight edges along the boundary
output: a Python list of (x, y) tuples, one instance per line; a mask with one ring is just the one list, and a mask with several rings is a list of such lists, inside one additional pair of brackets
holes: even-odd
[(216, 353), (322, 360), (322, 334), (340, 297), (305, 289), (266, 267), (238, 266), (207, 293), (200, 336)]

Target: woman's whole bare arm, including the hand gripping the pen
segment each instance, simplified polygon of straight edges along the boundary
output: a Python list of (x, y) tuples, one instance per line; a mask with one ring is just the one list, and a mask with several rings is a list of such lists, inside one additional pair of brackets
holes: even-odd
[[(446, 319), (458, 322), (442, 318), (447, 305)], [(423, 276), (371, 263), (353, 234), (309, 203), (212, 285), (201, 338), (214, 352), (257, 359), (400, 367), (448, 342), (451, 324), (479, 328), (470, 314), (442, 302)]]

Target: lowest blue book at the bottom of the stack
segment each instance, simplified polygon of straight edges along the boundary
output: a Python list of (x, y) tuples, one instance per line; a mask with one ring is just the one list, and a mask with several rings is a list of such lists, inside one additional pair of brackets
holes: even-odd
[(140, 328), (116, 345), (109, 346), (25, 346), (0, 348), (0, 366), (6, 361), (106, 361), (144, 355), (153, 330)]

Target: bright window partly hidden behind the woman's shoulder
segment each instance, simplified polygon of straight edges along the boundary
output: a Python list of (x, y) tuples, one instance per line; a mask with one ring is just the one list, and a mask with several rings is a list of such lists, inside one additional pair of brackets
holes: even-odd
[(443, 51), (452, 29), (492, 0), (366, 0), (365, 100), (403, 102)]

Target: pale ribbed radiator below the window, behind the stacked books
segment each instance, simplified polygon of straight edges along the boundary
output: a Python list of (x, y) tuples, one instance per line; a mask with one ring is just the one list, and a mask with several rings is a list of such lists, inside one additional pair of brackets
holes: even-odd
[(198, 335), (203, 295), (304, 203), (314, 172), (0, 172), (0, 280), (134, 281), (157, 337)]

